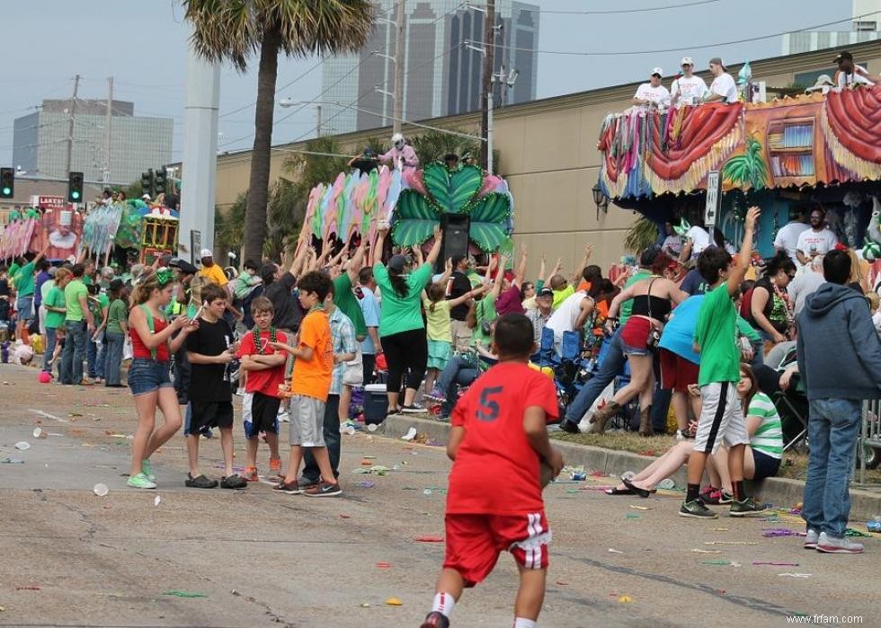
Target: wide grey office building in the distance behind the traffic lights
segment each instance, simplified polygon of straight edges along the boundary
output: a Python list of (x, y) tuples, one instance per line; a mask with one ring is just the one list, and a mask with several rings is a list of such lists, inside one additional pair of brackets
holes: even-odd
[[(43, 101), (40, 111), (13, 122), (13, 164), (47, 177), (67, 177), (67, 137), (72, 101)], [(172, 160), (174, 120), (135, 115), (133, 102), (113, 101), (110, 160), (107, 159), (107, 101), (76, 99), (70, 169), (86, 181), (119, 183)], [(107, 178), (104, 178), (107, 170)]]

